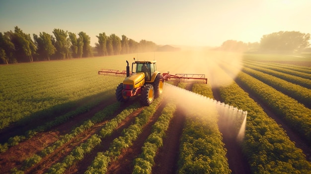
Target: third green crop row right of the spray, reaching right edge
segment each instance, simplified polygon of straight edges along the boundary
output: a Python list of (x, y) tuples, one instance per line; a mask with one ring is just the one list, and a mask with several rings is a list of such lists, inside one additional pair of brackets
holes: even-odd
[(286, 80), (247, 67), (244, 67), (242, 71), (266, 83), (267, 85), (272, 86), (278, 91), (283, 92), (290, 97), (293, 97), (299, 102), (311, 106), (311, 89), (293, 84)]

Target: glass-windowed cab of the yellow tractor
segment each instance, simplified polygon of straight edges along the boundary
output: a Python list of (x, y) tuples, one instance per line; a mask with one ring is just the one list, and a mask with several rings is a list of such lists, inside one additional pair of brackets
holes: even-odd
[[(134, 65), (135, 71), (134, 71)], [(146, 76), (146, 81), (151, 81), (151, 77), (153, 76), (154, 72), (156, 71), (156, 60), (152, 61), (135, 61), (132, 64), (132, 72), (139, 73), (144, 72)]]

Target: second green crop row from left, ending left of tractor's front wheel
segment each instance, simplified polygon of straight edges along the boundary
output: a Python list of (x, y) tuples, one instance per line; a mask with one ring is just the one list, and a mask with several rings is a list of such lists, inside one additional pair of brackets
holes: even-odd
[[(39, 156), (40, 157), (45, 157), (45, 156), (47, 156), (49, 154), (52, 154), (55, 150), (57, 150), (58, 148), (62, 147), (66, 143), (70, 142), (73, 138), (77, 137), (79, 134), (83, 133), (87, 129), (89, 129), (92, 126), (94, 126), (94, 124), (102, 121), (107, 116), (111, 116), (119, 108), (119, 106), (120, 106), (119, 103), (115, 103), (115, 104), (112, 104), (112, 105), (106, 107), (102, 111), (96, 113), (92, 118), (84, 121), (83, 124), (81, 124), (80, 126), (76, 127), (75, 129), (73, 129), (70, 133), (68, 133), (66, 135), (62, 135), (52, 145), (50, 145), (50, 146), (46, 147), (45, 149), (43, 149), (40, 152)], [(36, 163), (29, 164), (29, 161), (30, 162), (33, 161), (33, 160), (29, 160), (29, 159), (36, 158), (36, 156), (38, 156), (38, 155), (35, 154), (32, 157), (29, 157), (28, 159), (26, 159), (24, 164), (23, 164), (22, 170), (27, 170), (29, 167), (34, 166)], [(40, 161), (41, 160), (37, 161), (37, 163), (40, 162)]]

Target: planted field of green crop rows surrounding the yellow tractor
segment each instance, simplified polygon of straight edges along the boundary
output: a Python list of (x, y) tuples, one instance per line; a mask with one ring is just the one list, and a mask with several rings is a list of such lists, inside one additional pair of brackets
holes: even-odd
[[(123, 78), (97, 71), (125, 70), (133, 57), (208, 84), (166, 83), (149, 107), (140, 96), (118, 103)], [(228, 120), (212, 99), (247, 119)], [(1, 65), (0, 171), (308, 174), (311, 57), (192, 50)]]

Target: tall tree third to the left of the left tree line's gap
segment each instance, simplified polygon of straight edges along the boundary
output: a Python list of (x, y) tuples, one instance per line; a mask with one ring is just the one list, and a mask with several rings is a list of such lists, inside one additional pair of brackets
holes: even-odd
[(65, 59), (69, 58), (69, 48), (70, 48), (70, 39), (68, 38), (68, 31), (64, 31), (61, 29), (54, 29), (53, 34), (56, 38), (55, 48), (57, 50), (58, 55)]

